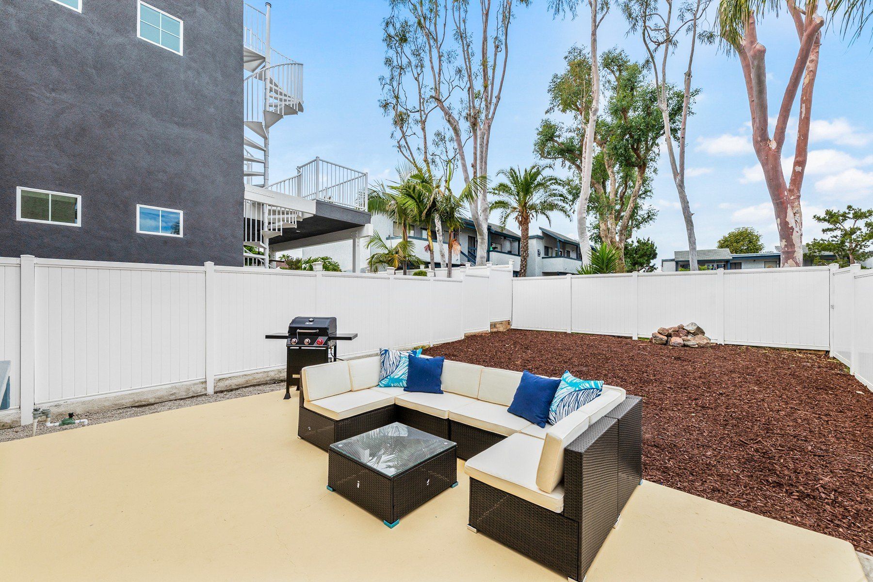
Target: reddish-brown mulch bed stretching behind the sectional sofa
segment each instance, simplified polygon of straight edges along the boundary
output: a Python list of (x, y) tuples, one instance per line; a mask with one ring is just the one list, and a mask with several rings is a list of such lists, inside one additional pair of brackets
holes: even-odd
[(835, 359), (523, 330), (426, 353), (643, 396), (645, 479), (873, 553), (873, 393)]

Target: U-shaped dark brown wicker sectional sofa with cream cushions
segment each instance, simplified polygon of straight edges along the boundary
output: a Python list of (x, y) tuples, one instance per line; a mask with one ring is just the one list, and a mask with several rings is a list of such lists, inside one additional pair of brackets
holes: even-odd
[(298, 435), (320, 448), (400, 421), (457, 442), (471, 531), (581, 580), (640, 483), (643, 401), (622, 388), (540, 428), (506, 411), (521, 373), (445, 360), (443, 393), (378, 387), (379, 357), (303, 369)]

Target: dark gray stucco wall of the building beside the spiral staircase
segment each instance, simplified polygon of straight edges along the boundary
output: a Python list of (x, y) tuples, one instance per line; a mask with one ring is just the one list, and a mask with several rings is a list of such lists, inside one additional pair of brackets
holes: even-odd
[[(149, 0), (184, 56), (136, 37), (136, 0), (0, 2), (0, 256), (242, 263), (243, 3)], [(82, 196), (81, 228), (16, 220), (16, 187)], [(136, 232), (136, 205), (184, 236)]]

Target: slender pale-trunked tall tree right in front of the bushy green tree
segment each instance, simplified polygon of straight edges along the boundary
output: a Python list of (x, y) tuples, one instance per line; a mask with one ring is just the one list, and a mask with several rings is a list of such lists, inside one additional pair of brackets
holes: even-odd
[[(571, 17), (575, 18), (580, 3), (581, 0), (549, 0), (549, 8), (553, 10), (555, 16), (569, 14)], [(579, 144), (581, 166), (578, 169), (583, 188), (581, 189), (582, 195), (576, 205), (576, 230), (579, 234), (583, 265), (588, 264), (590, 256), (586, 211), (588, 210), (588, 192), (590, 191), (588, 184), (591, 182), (591, 167), (594, 163), (595, 124), (597, 123), (597, 115), (600, 112), (600, 66), (597, 56), (597, 31), (609, 10), (608, 0), (587, 0), (587, 3), (591, 21), (590, 37), (588, 41), (590, 53), (588, 56), (587, 73), (576, 71), (570, 78), (552, 79), (553, 85), (556, 80), (564, 85), (572, 83), (574, 80), (581, 83), (577, 91), (580, 93), (579, 96), (583, 100), (581, 102), (578, 100), (574, 102), (573, 99), (570, 99), (566, 103), (560, 103), (559, 109), (561, 113), (581, 113), (581, 125), (579, 127), (581, 133)], [(571, 51), (573, 51), (573, 49), (571, 49)], [(567, 57), (570, 57), (569, 53), (567, 54)], [(570, 61), (567, 59), (567, 65), (569, 64)], [(572, 71), (568, 69), (568, 72)], [(552, 107), (550, 107), (550, 109), (551, 108)], [(582, 130), (582, 127), (584, 127), (584, 130)]]

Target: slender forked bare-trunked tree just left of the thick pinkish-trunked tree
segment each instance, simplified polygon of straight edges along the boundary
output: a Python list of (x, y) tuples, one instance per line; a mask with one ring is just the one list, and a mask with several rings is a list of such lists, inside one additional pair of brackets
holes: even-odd
[(628, 19), (630, 31), (639, 33), (643, 40), (649, 65), (655, 79), (656, 103), (665, 126), (670, 123), (670, 93), (674, 91), (667, 79), (670, 57), (675, 54), (678, 38), (686, 34), (688, 64), (685, 66), (682, 91), (682, 115), (676, 132), (663, 134), (664, 146), (670, 160), (670, 173), (676, 184), (679, 206), (688, 236), (688, 256), (691, 270), (698, 270), (698, 239), (694, 231), (694, 215), (685, 190), (685, 149), (688, 116), (697, 94), (691, 89), (691, 71), (698, 40), (711, 41), (710, 31), (701, 30), (701, 21), (711, 0), (622, 0), (622, 12)]

